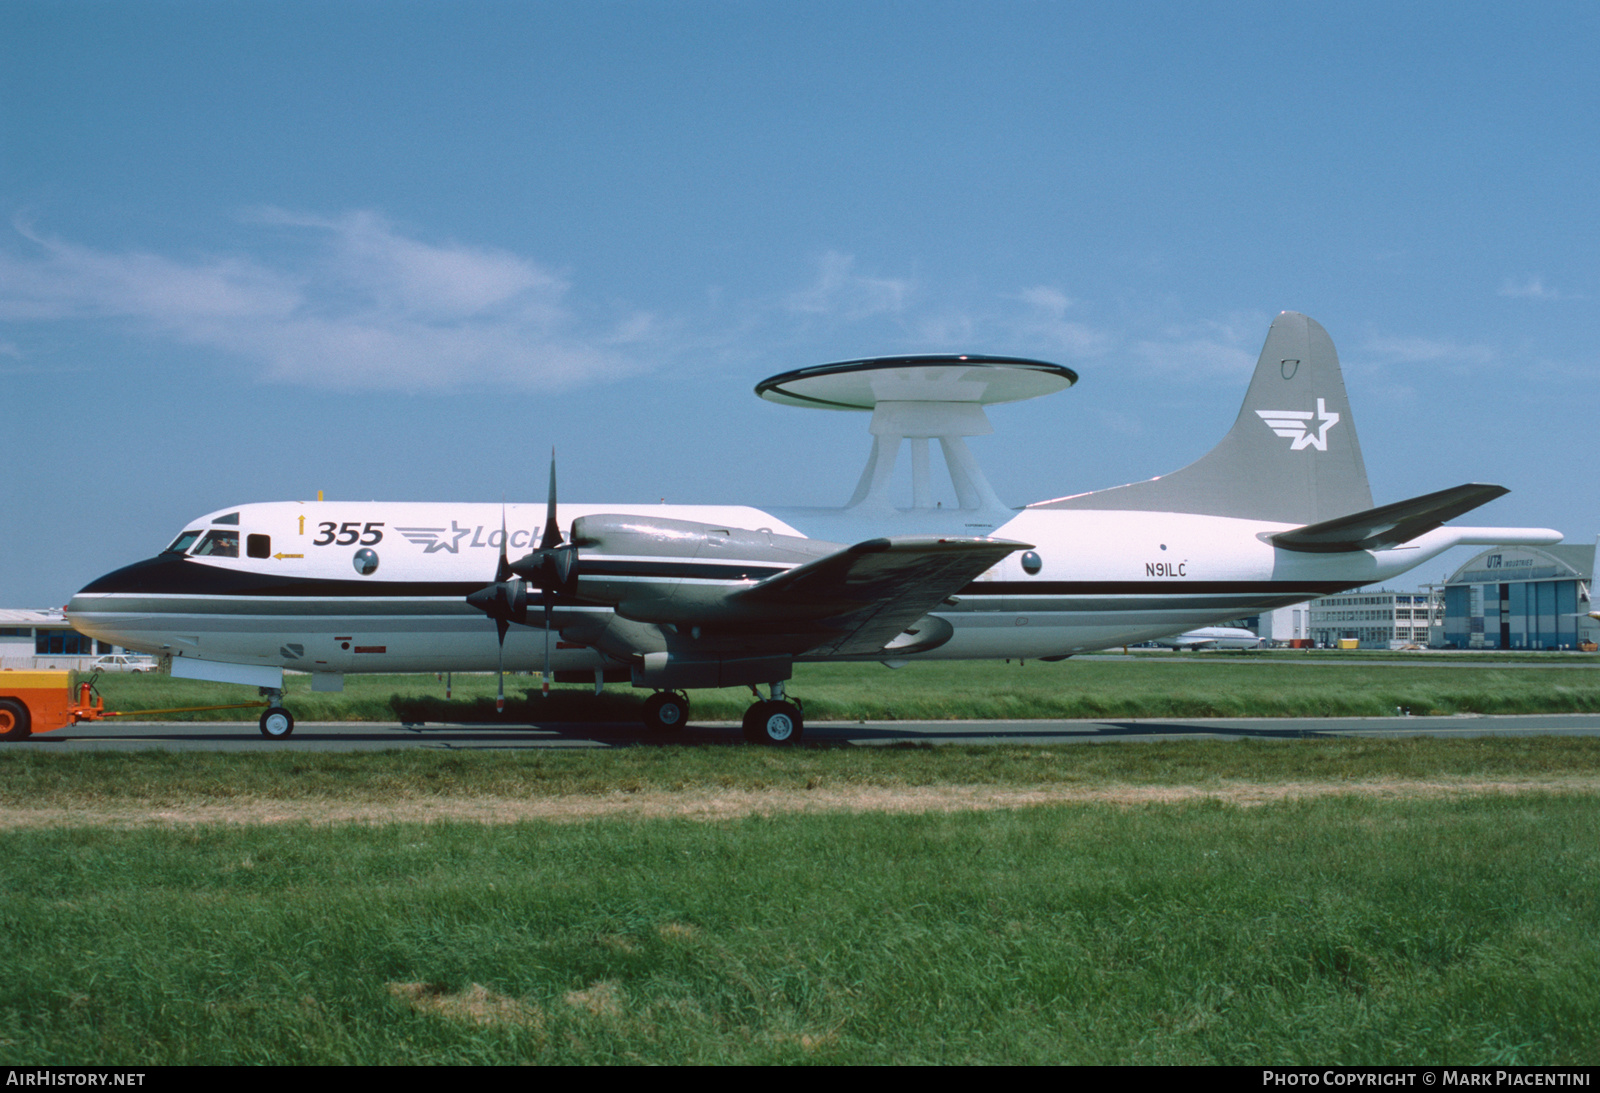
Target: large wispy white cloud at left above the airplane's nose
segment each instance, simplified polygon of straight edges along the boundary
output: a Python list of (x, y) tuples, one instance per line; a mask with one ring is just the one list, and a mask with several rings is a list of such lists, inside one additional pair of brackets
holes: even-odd
[(0, 251), (0, 317), (122, 320), (272, 379), (402, 390), (606, 379), (637, 368), (618, 347), (654, 330), (642, 315), (581, 330), (555, 272), (502, 250), (421, 242), (374, 213), (253, 219), (307, 232), (309, 258), (99, 251), (19, 224), (30, 246)]

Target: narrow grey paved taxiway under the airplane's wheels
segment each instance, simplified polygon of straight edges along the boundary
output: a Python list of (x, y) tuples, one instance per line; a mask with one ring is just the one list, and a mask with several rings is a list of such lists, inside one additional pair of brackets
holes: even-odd
[[(1318, 736), (1600, 736), (1600, 714), (1518, 717), (1259, 717), (1040, 722), (814, 722), (808, 744), (1107, 744), (1166, 739), (1310, 739)], [(634, 744), (734, 744), (731, 722), (691, 725), (672, 736), (637, 723), (406, 725), (402, 722), (301, 722), (294, 736), (270, 741), (254, 722), (101, 722), (42, 733), (13, 747), (46, 751), (374, 751), (386, 747), (627, 747)]]

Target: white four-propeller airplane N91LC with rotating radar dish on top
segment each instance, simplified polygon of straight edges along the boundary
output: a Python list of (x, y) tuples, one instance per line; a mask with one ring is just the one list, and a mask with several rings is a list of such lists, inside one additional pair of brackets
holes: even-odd
[[(1373, 507), (1326, 331), (1283, 312), (1222, 442), (1165, 477), (1003, 504), (963, 437), (984, 406), (1072, 386), (1059, 365), (974, 355), (856, 360), (773, 376), (781, 403), (872, 413), (842, 509), (246, 504), (200, 517), (154, 559), (72, 597), (77, 629), (170, 655), (173, 674), (262, 688), (288, 736), (283, 671), (490, 671), (650, 688), (645, 722), (683, 725), (686, 690), (770, 688), (752, 741), (800, 739), (798, 661), (1037, 658), (1146, 642), (1387, 581), (1461, 544), (1549, 544), (1547, 528), (1443, 526), (1506, 493), (1462, 485)], [(938, 438), (957, 507), (931, 499)], [(902, 442), (909, 507), (890, 498)], [(562, 518), (568, 523), (562, 525)], [(522, 557), (517, 557), (517, 555)], [(517, 559), (512, 562), (510, 559)], [(485, 618), (486, 616), (486, 618)], [(550, 650), (550, 637), (555, 648)]]

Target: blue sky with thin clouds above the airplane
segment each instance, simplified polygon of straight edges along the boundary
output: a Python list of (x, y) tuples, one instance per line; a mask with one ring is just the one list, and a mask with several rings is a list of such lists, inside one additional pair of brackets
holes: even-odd
[[(1333, 334), (1379, 502), (1594, 541), (1600, 8), (0, 5), (0, 603), (312, 498), (843, 504), (912, 350), (1082, 376), (1021, 504)], [(947, 486), (946, 486), (947, 490)], [(1438, 579), (1442, 562), (1416, 581)], [(1405, 578), (1408, 579), (1408, 578)]]

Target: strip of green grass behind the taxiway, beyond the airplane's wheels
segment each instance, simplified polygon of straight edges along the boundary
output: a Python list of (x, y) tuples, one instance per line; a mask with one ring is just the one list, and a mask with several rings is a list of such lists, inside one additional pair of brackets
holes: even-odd
[[(1560, 667), (1557, 667), (1560, 666)], [(800, 664), (789, 693), (810, 720), (949, 720), (1038, 717), (1389, 717), (1600, 711), (1600, 659), (1403, 655), (1126, 656), (997, 664)], [(456, 675), (453, 699), (434, 675), (347, 675), (339, 695), (314, 695), (306, 675), (286, 679), (286, 704), (302, 722), (494, 722), (494, 677)], [(165, 675), (102, 675), (107, 709), (211, 706), (253, 698), (248, 688)], [(507, 679), (512, 723), (637, 720), (645, 691), (611, 685), (557, 687)], [(694, 691), (696, 720), (736, 722), (749, 690)], [(173, 720), (254, 720), (259, 709), (165, 715)]]

